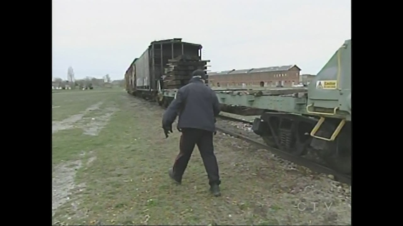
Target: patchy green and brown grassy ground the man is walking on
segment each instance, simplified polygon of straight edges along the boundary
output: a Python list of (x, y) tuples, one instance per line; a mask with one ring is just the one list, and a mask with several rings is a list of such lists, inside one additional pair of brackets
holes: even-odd
[[(197, 151), (182, 185), (167, 175), (179, 133), (165, 139), (163, 109), (122, 89), (53, 93), (52, 214), (59, 225), (339, 224), (295, 204), (317, 194), (293, 193), (312, 177), (282, 168), (264, 150), (215, 136), (222, 196), (213, 197)], [(253, 154), (250, 154), (253, 152)], [(315, 179), (315, 183), (321, 183)], [(318, 204), (319, 205), (319, 204)], [(332, 208), (333, 208), (332, 206)], [(329, 215), (330, 214), (330, 215)], [(351, 213), (343, 213), (351, 214)], [(337, 214), (336, 214), (337, 215)], [(344, 217), (344, 216), (343, 216)]]

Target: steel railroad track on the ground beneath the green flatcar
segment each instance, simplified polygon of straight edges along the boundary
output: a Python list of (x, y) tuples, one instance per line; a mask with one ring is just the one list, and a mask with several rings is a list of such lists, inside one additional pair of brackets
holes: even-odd
[[(248, 122), (248, 121), (245, 121), (245, 120), (236, 119), (236, 118), (232, 118), (232, 117), (228, 117), (228, 116), (220, 115), (219, 118), (221, 118), (223, 120), (240, 122), (240, 123), (245, 123), (245, 124), (249, 124), (249, 125), (253, 124), (252, 122)], [(306, 159), (304, 157), (295, 156), (295, 155), (292, 155), (292, 154), (290, 154), (288, 152), (282, 151), (280, 149), (267, 146), (266, 144), (263, 144), (263, 143), (261, 143), (261, 142), (259, 142), (257, 140), (254, 140), (254, 139), (248, 138), (248, 137), (246, 137), (244, 135), (241, 135), (241, 134), (238, 134), (238, 133), (235, 133), (235, 132), (220, 128), (218, 126), (216, 126), (216, 129), (217, 129), (217, 131), (220, 131), (221, 133), (228, 134), (228, 135), (233, 136), (235, 138), (244, 140), (244, 141), (246, 141), (246, 142), (248, 142), (248, 143), (250, 143), (250, 144), (252, 144), (254, 146), (257, 146), (257, 147), (266, 149), (268, 151), (271, 151), (273, 154), (279, 156), (282, 159), (285, 159), (285, 160), (293, 162), (293, 163), (295, 163), (297, 165), (309, 168), (310, 170), (312, 170), (314, 172), (333, 175), (335, 181), (339, 181), (339, 182), (351, 185), (351, 176), (350, 175), (341, 174), (341, 173), (339, 173), (337, 171), (334, 171), (334, 170), (332, 170), (332, 169), (330, 169), (330, 168), (328, 168), (328, 167), (326, 167), (324, 165), (321, 165), (319, 163), (313, 162), (313, 161), (311, 161), (309, 159)]]

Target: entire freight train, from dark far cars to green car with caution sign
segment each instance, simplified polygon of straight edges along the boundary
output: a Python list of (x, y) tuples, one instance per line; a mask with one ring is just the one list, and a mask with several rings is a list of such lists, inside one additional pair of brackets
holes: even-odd
[[(127, 92), (168, 106), (192, 70), (207, 68), (201, 48), (181, 39), (152, 42), (126, 70)], [(258, 112), (252, 130), (267, 145), (301, 157), (315, 152), (330, 168), (349, 175), (351, 76), (351, 40), (347, 40), (308, 87), (215, 91), (223, 111)]]

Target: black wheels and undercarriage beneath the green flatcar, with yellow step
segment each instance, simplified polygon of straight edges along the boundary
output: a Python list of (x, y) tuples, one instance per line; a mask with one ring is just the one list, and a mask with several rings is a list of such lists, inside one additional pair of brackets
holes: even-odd
[(264, 112), (252, 130), (268, 146), (301, 157), (314, 153), (329, 168), (351, 174), (351, 122)]

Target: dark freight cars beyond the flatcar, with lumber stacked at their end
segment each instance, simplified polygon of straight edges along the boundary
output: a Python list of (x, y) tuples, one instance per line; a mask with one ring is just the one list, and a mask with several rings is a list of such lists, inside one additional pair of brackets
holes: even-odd
[(158, 100), (162, 88), (179, 88), (195, 69), (207, 69), (201, 60), (200, 44), (168, 39), (151, 42), (147, 50), (133, 60), (125, 72), (128, 93)]

